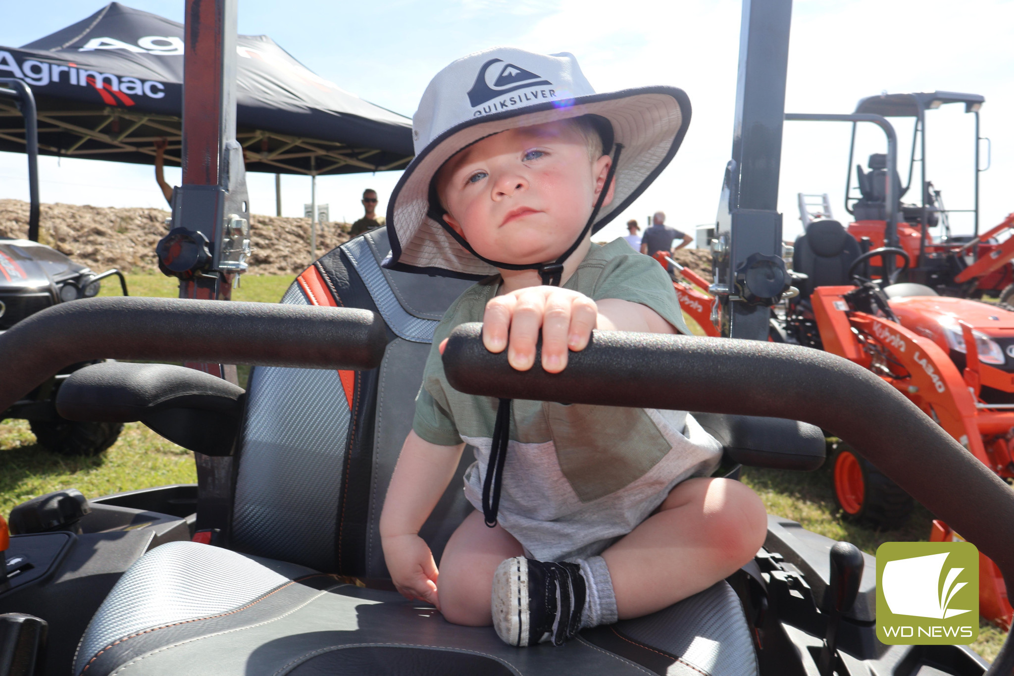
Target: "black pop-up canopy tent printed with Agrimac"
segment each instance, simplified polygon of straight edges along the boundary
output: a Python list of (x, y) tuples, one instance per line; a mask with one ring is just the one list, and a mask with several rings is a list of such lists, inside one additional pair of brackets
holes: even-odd
[[(236, 43), (236, 139), (247, 170), (331, 174), (403, 168), (412, 121), (339, 88), (267, 35)], [(184, 26), (113, 2), (19, 49), (0, 77), (27, 83), (42, 154), (150, 164), (166, 139), (178, 163)], [(24, 124), (0, 100), (0, 150), (24, 152)]]

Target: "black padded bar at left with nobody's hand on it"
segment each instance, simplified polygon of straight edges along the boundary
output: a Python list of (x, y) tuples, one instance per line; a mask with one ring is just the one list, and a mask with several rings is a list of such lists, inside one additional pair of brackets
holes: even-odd
[(385, 331), (378, 314), (354, 308), (136, 296), (60, 303), (0, 333), (0, 410), (94, 359), (372, 369)]

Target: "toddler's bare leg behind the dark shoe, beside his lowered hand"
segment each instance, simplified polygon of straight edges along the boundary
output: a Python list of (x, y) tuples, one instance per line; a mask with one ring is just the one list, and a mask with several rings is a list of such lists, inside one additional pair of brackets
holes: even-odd
[(493, 573), (500, 561), (523, 552), (520, 543), (503, 528), (487, 528), (479, 512), (465, 517), (440, 557), (437, 594), (444, 618), (468, 626), (492, 624)]

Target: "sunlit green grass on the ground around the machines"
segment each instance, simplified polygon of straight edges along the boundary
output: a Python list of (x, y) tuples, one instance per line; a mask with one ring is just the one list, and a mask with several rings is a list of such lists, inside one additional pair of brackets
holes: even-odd
[[(246, 277), (242, 288), (234, 290), (232, 297), (275, 303), (291, 282), (288, 276)], [(176, 281), (161, 275), (128, 275), (127, 283), (135, 296), (177, 295)], [(99, 295), (120, 295), (119, 285), (103, 284)], [(246, 371), (240, 367), (243, 386)], [(24, 421), (6, 421), (0, 424), (0, 514), (34, 496), (67, 487), (97, 497), (193, 482), (197, 480), (193, 455), (141, 424), (129, 424), (119, 441), (102, 456), (66, 457), (35, 445)], [(798, 521), (804, 528), (826, 537), (852, 542), (869, 553), (875, 553), (882, 542), (920, 541), (929, 537), (933, 518), (920, 506), (909, 522), (896, 530), (876, 530), (844, 520), (831, 493), (829, 464), (809, 473), (748, 468), (742, 479), (760, 496), (770, 513)], [(984, 620), (972, 649), (993, 660), (1005, 635)]]

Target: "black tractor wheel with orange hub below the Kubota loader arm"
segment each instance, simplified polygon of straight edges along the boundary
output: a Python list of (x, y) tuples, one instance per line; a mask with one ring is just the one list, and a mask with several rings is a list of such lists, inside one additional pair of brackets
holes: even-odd
[(912, 514), (912, 497), (848, 446), (835, 456), (831, 481), (847, 519), (892, 529), (903, 526)]

